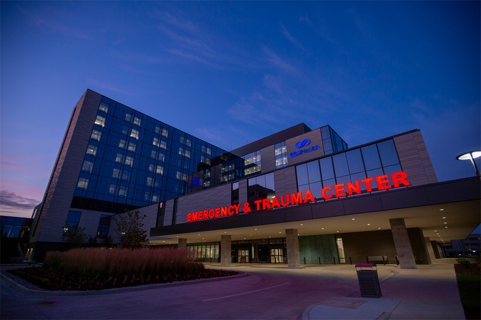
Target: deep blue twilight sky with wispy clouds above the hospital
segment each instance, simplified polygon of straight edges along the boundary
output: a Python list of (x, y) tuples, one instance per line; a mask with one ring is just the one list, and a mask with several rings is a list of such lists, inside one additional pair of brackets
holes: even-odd
[(480, 3), (2, 1), (1, 213), (42, 200), (87, 88), (227, 150), (300, 122), (350, 147), (417, 128), (439, 181), (473, 176)]

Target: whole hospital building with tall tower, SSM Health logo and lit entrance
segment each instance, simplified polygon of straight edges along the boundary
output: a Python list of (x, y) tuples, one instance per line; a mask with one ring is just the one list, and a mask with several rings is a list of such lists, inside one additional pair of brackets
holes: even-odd
[(199, 260), (413, 268), (479, 224), (480, 193), (475, 177), (437, 181), (417, 129), (348, 148), (329, 125), (300, 123), (227, 152), (87, 90), (34, 211), (29, 257), (61, 248), (72, 226), (115, 240), (112, 215), (138, 209), (149, 245)]

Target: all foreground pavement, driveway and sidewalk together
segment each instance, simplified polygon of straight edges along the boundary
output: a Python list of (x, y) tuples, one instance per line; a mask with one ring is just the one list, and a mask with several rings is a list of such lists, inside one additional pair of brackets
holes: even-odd
[[(382, 297), (360, 297), (353, 265), (231, 267), (248, 276), (111, 294), (24, 294), (4, 279), (4, 319), (462, 319), (453, 262), (378, 268)], [(212, 268), (224, 268), (211, 266)]]

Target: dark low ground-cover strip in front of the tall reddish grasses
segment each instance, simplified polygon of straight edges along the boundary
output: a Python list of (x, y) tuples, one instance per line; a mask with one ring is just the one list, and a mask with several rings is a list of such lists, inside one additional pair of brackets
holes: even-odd
[(63, 273), (51, 269), (35, 266), (9, 270), (32, 284), (46, 290), (102, 290), (119, 288), (124, 286), (146, 285), (154, 283), (167, 283), (173, 281), (186, 281), (194, 279), (205, 279), (237, 274), (235, 271), (204, 269), (196, 274), (159, 274), (142, 275), (132, 274), (120, 277), (86, 276), (75, 273)]

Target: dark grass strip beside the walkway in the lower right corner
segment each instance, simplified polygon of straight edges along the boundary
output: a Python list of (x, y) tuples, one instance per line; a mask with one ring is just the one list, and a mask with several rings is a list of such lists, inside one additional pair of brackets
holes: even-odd
[[(457, 265), (456, 265), (457, 266)], [(463, 273), (463, 269), (465, 273)], [(457, 287), (466, 319), (481, 319), (481, 274), (477, 263), (470, 268), (456, 267)], [(476, 270), (477, 274), (473, 272)]]

